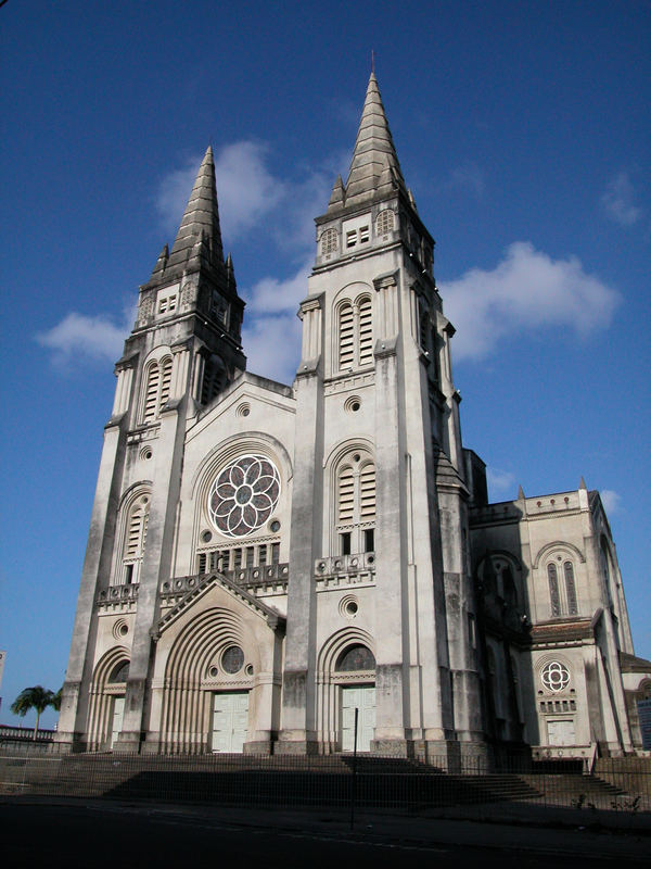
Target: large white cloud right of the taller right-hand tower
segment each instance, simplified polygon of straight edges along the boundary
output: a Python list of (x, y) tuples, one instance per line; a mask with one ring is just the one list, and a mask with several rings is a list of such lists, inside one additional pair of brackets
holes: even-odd
[(472, 268), (441, 285), (456, 326), (456, 358), (482, 358), (507, 336), (544, 326), (579, 337), (609, 326), (620, 294), (584, 272), (576, 256), (552, 260), (529, 241), (509, 245), (493, 270)]

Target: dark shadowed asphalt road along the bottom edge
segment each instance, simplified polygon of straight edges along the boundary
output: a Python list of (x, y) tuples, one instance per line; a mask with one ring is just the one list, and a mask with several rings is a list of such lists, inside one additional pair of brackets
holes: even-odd
[[(419, 837), (395, 826), (390, 829), (386, 824), (383, 829), (381, 822), (369, 827), (360, 821), (350, 832), (341, 819), (334, 820), (329, 830), (327, 818), (320, 818), (319, 823), (307, 819), (305, 824), (282, 826), (279, 816), (275, 829), (268, 823), (247, 823), (244, 810), (242, 816), (242, 822), (232, 819), (225, 822), (218, 814), (193, 814), (174, 807), (4, 802), (0, 805), (0, 866), (2, 869), (222, 869), (227, 865), (255, 865), (261, 869), (298, 866), (343, 869), (350, 865), (382, 869), (410, 864), (435, 869), (485, 869), (487, 865), (503, 869), (549, 869), (551, 862), (554, 869), (596, 869), (612, 866), (615, 860), (622, 862), (624, 857), (613, 853), (612, 841), (610, 854), (600, 853), (598, 843), (583, 854), (574, 848), (572, 853), (563, 853), (553, 830), (528, 844), (525, 837), (524, 844), (519, 845), (510, 841), (505, 828), (501, 844), (499, 835), (494, 835), (493, 843), (486, 845), (473, 844), (470, 826), (459, 828), (459, 842), (436, 842), (432, 836)], [(468, 836), (463, 830), (468, 830)], [(651, 841), (647, 841), (651, 846)], [(629, 864), (630, 856), (624, 860)], [(633, 862), (640, 865), (646, 860), (638, 856)]]

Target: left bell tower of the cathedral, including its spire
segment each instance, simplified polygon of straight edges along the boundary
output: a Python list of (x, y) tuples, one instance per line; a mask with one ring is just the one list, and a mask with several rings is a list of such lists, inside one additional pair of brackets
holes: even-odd
[(207, 149), (176, 240), (140, 287), (137, 320), (115, 373), (84, 563), (59, 740), (84, 747), (92, 647), (103, 602), (135, 613), (124, 719), (115, 747), (140, 750), (146, 730), (150, 631), (169, 576), (188, 426), (246, 367), (244, 302), (219, 228)]

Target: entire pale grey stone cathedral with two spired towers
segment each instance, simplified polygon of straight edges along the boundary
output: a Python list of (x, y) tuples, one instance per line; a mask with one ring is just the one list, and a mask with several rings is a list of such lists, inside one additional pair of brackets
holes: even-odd
[(60, 743), (640, 750), (651, 664), (599, 493), (488, 502), (433, 265), (372, 74), (294, 382), (248, 371), (208, 148), (115, 367)]

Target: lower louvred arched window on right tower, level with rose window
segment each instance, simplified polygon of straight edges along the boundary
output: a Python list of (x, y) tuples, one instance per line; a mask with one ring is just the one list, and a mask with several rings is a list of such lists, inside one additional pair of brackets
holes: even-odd
[(339, 552), (375, 549), (375, 465), (361, 452), (346, 456), (336, 473), (335, 526)]

